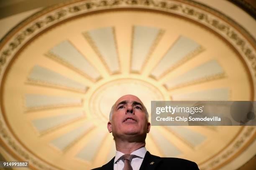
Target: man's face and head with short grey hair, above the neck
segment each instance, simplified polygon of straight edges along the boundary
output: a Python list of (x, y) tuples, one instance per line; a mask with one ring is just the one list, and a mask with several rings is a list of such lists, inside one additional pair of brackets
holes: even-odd
[(120, 97), (114, 105), (112, 120), (108, 122), (108, 131), (114, 138), (138, 137), (145, 140), (150, 130), (141, 100), (134, 95)]

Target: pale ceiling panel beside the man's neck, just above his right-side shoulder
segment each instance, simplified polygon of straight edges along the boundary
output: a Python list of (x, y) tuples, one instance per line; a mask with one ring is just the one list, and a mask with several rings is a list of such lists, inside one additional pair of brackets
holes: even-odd
[(164, 156), (176, 157), (177, 155), (181, 154), (181, 151), (176, 146), (172, 145), (172, 143), (163, 135), (161, 135), (158, 130), (151, 128), (150, 133)]

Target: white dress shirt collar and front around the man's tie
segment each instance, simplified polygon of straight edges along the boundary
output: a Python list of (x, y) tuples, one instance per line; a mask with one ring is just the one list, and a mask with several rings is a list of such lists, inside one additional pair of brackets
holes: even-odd
[[(135, 150), (131, 153), (131, 155), (136, 155), (137, 157), (133, 158), (131, 160), (131, 166), (133, 170), (139, 170), (142, 164), (142, 161), (146, 155), (146, 148), (142, 147), (138, 150)], [(115, 152), (115, 160), (114, 160), (114, 170), (123, 170), (124, 161), (121, 160), (121, 156), (125, 155), (124, 153), (121, 153), (119, 151)]]

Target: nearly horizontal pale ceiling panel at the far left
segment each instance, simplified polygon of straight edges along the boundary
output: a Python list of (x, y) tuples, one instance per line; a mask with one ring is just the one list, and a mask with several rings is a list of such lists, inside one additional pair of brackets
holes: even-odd
[(26, 107), (28, 109), (41, 107), (47, 108), (56, 106), (82, 105), (82, 99), (74, 97), (26, 94), (25, 100)]

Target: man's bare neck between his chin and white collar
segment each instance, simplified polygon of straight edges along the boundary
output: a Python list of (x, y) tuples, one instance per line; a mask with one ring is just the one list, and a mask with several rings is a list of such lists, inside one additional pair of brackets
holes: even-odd
[(124, 154), (131, 154), (133, 151), (138, 150), (146, 145), (146, 143), (138, 143), (138, 142), (126, 142), (126, 141), (118, 141), (115, 140), (115, 148), (117, 151)]

